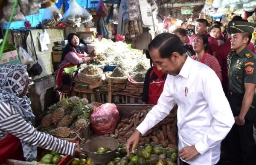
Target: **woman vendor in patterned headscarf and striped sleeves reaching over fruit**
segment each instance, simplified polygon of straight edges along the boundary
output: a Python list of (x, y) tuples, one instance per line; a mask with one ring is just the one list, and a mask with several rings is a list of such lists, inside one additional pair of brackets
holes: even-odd
[(25, 65), (0, 67), (0, 164), (6, 159), (35, 160), (37, 147), (73, 156), (81, 153), (75, 143), (38, 132), (31, 125), (35, 116), (26, 96), (30, 83)]

